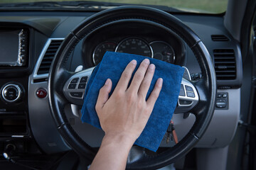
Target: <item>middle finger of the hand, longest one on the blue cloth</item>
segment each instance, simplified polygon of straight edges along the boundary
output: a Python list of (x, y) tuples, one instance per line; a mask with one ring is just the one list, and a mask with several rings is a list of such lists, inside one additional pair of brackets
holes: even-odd
[(137, 72), (134, 74), (134, 77), (132, 79), (132, 83), (129, 86), (129, 90), (131, 91), (139, 91), (139, 86), (142, 84), (142, 80), (144, 79), (144, 76), (146, 74), (146, 69), (149, 67), (149, 60), (145, 59), (142, 61), (142, 63), (139, 65), (139, 68), (137, 69)]

